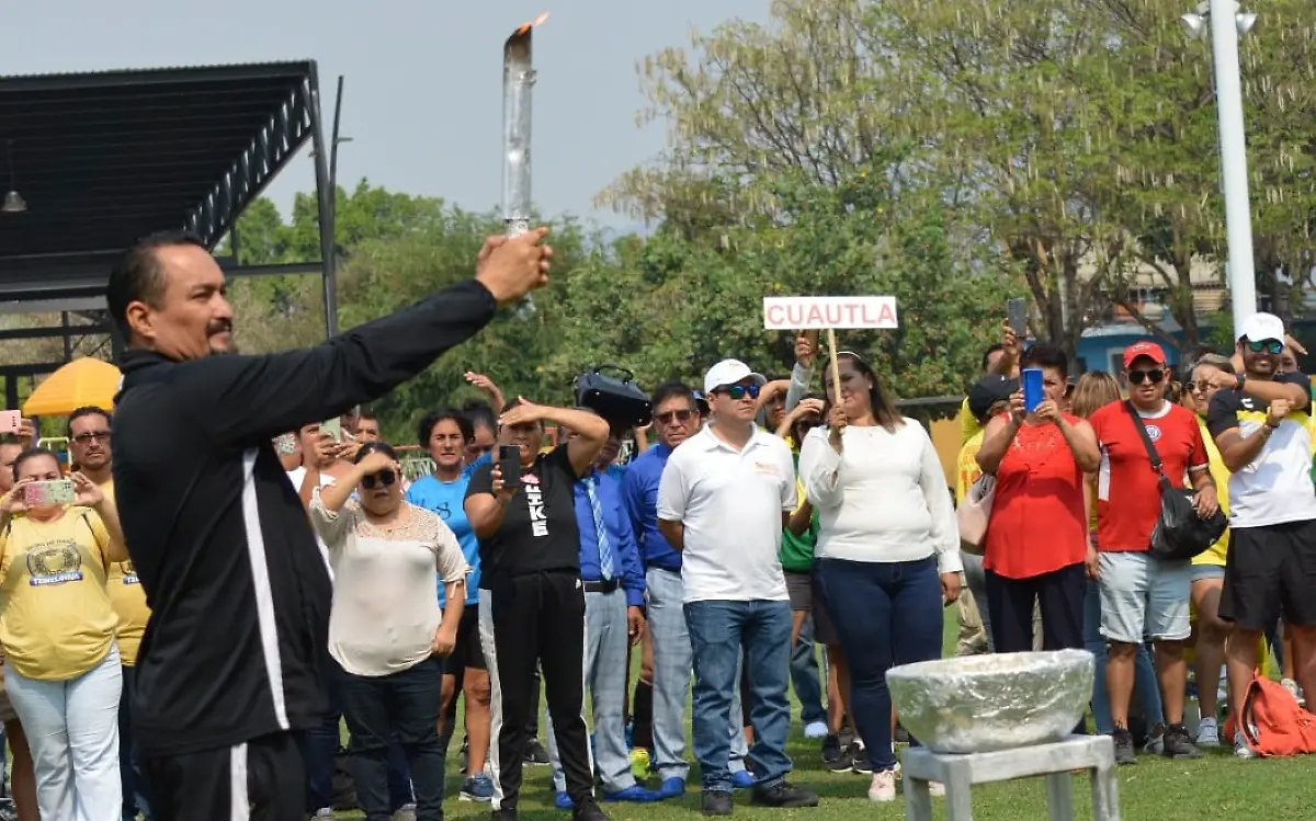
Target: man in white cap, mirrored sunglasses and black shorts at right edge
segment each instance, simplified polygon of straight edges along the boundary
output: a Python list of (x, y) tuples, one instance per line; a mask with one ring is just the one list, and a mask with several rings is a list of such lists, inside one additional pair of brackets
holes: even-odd
[[(1257, 646), (1277, 618), (1294, 638), (1298, 684), (1316, 692), (1316, 488), (1311, 478), (1311, 380), (1282, 372), (1284, 324), (1254, 313), (1238, 334), (1244, 372), (1209, 376), (1207, 428), (1229, 468), (1229, 555), (1220, 618), (1233, 624), (1225, 650), (1229, 704), (1241, 705)], [(1240, 718), (1238, 713), (1234, 713)], [(1234, 755), (1254, 753), (1234, 735)]]

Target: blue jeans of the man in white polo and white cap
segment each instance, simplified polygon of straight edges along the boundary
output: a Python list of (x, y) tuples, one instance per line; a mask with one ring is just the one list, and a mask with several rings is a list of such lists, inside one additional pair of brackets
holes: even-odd
[(740, 716), (732, 714), (732, 693), (740, 689), (741, 647), (754, 728), (749, 759), (755, 783), (775, 785), (791, 771), (786, 754), (791, 730), (791, 603), (690, 601), (686, 624), (695, 663), (691, 735), (701, 787), (711, 792), (732, 789), (726, 728), (733, 721), (740, 724)]

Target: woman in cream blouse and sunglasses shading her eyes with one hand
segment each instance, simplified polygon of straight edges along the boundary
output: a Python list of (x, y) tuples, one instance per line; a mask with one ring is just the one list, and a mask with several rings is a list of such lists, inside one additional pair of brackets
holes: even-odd
[[(334, 572), (329, 653), (342, 668), (361, 809), (368, 821), (392, 817), (388, 739), (396, 734), (411, 768), (417, 821), (441, 821), (441, 657), (457, 642), (468, 567), (438, 514), (403, 500), (401, 476), (393, 449), (368, 442), (346, 475), (316, 489), (311, 520)], [(349, 503), (353, 491), (358, 500)], [(436, 572), (447, 595), (442, 613)]]

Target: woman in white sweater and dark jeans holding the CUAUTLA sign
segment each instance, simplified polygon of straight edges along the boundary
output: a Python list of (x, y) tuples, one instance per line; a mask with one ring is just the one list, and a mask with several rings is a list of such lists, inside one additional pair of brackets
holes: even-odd
[(959, 596), (959, 532), (941, 460), (923, 426), (900, 417), (858, 354), (828, 374), (829, 426), (800, 453), (819, 509), (815, 580), (850, 659), (850, 705), (873, 764), (869, 799), (896, 796), (891, 747), (895, 664), (941, 658), (942, 605)]

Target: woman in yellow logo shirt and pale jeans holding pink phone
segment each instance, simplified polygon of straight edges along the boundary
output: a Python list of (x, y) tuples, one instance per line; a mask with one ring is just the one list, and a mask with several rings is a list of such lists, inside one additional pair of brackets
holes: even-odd
[(0, 500), (0, 643), (37, 805), (42, 818), (118, 821), (122, 675), (105, 591), (111, 563), (128, 560), (118, 513), (82, 474), (71, 478), (72, 504), (36, 501), (29, 488), (62, 479), (43, 447), (22, 451), (13, 475)]

